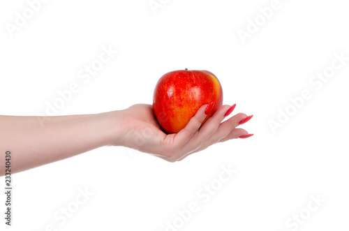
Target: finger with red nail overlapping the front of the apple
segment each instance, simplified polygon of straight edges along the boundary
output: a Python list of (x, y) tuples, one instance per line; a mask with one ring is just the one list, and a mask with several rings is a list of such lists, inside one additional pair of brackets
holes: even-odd
[(195, 116), (191, 118), (188, 124), (179, 131), (174, 137), (174, 141), (178, 147), (184, 147), (184, 145), (193, 137), (195, 133), (198, 132), (202, 121), (206, 118), (205, 109), (208, 104), (202, 105)]

